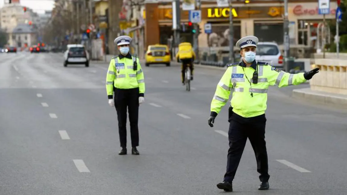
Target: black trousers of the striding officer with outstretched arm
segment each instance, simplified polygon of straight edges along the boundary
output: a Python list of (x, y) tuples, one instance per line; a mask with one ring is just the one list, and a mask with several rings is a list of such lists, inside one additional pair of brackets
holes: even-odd
[(229, 150), (227, 171), (224, 180), (230, 183), (235, 177), (242, 153), (245, 149), (247, 138), (251, 142), (257, 161), (257, 171), (260, 173), (260, 181), (268, 181), (268, 153), (265, 142), (265, 114), (244, 118), (235, 113), (230, 117), (229, 125)]

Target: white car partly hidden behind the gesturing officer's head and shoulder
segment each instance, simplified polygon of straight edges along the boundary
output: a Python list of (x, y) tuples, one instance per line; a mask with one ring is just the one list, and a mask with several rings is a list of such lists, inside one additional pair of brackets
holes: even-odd
[(273, 67), (283, 68), (283, 56), (277, 43), (274, 42), (258, 42), (255, 60), (268, 62)]

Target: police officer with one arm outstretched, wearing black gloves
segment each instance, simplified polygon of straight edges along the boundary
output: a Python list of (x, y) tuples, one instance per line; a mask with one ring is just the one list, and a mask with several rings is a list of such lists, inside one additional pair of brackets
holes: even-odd
[(219, 189), (232, 191), (235, 177), (247, 138), (251, 142), (257, 161), (257, 171), (261, 181), (259, 190), (269, 189), (268, 154), (265, 143), (265, 110), (269, 86), (285, 87), (298, 85), (313, 77), (318, 68), (306, 73), (289, 74), (271, 67), (266, 62), (256, 62), (258, 38), (246, 36), (236, 46), (240, 48), (242, 61), (228, 65), (228, 69), (218, 83), (211, 102), (208, 123), (213, 127), (214, 119), (225, 106), (232, 92), (229, 107), (229, 150), (227, 170)]

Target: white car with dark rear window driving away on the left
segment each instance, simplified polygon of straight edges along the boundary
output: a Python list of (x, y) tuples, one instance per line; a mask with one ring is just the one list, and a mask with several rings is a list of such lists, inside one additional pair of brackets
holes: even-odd
[(84, 64), (85, 67), (89, 67), (89, 54), (81, 44), (67, 45), (64, 60), (64, 67), (67, 67), (68, 64)]

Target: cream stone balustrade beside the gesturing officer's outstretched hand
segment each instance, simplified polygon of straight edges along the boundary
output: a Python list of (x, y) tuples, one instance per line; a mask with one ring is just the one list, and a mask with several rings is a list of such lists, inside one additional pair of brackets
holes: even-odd
[(311, 80), (311, 90), (347, 95), (347, 60), (315, 59), (312, 68), (320, 68)]

